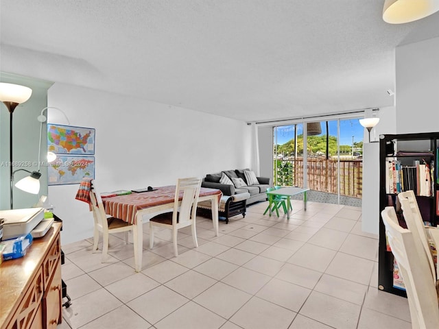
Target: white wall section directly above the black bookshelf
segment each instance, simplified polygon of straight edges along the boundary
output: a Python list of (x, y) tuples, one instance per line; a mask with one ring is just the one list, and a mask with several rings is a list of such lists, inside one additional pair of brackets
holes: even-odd
[(439, 131), (439, 38), (396, 47), (398, 134)]

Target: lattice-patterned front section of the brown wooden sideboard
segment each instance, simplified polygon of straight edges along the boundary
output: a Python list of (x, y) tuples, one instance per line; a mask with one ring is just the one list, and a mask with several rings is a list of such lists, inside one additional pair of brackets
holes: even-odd
[[(41, 303), (41, 297), (43, 297), (43, 269), (39, 269), (36, 273), (35, 279), (27, 289), (19, 307), (8, 325), (8, 329), (20, 328), (20, 329), (30, 329), (34, 328), (32, 324), (34, 323), (34, 318), (36, 315), (41, 314), (41, 308), (39, 308)], [(37, 317), (38, 318), (38, 317)], [(35, 327), (38, 328), (38, 327)]]

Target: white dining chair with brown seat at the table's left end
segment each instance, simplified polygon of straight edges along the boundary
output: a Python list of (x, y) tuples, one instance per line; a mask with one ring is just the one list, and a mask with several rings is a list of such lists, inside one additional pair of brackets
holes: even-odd
[(108, 240), (109, 234), (124, 232), (125, 243), (128, 243), (128, 232), (134, 230), (134, 226), (122, 219), (110, 217), (106, 215), (102, 197), (98, 193), (95, 181), (91, 182), (90, 199), (93, 210), (93, 219), (95, 221), (95, 228), (93, 233), (93, 250), (98, 249), (99, 232), (102, 233), (102, 262), (108, 256)]

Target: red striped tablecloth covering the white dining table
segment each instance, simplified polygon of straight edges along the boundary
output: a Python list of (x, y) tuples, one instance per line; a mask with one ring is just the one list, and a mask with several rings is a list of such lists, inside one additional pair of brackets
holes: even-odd
[[(156, 191), (131, 193), (128, 195), (118, 195), (117, 197), (105, 197), (102, 199), (102, 202), (104, 203), (107, 215), (135, 224), (136, 215), (139, 210), (173, 203), (175, 194), (175, 185), (161, 186), (156, 187)], [(200, 197), (208, 195), (217, 195), (219, 202), (219, 199), (222, 197), (222, 192), (215, 188), (202, 187), (200, 189)], [(180, 193), (180, 200), (182, 196), (182, 193)]]

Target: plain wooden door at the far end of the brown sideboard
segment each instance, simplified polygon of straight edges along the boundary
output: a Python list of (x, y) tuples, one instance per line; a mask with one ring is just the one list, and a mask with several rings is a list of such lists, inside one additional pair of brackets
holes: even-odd
[(61, 263), (58, 261), (43, 295), (43, 328), (56, 328), (61, 323), (61, 289)]

